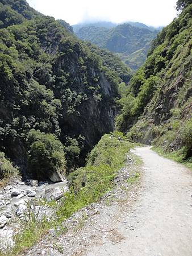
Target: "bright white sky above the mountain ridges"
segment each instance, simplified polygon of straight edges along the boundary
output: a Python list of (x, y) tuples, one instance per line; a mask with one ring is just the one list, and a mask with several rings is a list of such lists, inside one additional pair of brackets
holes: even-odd
[(166, 26), (177, 16), (177, 0), (27, 0), (45, 15), (70, 25), (87, 21), (142, 22)]

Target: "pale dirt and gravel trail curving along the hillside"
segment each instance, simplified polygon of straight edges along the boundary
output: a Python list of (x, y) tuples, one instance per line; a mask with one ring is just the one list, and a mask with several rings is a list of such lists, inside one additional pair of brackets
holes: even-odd
[(125, 239), (90, 246), (86, 255), (191, 256), (192, 172), (150, 147), (133, 152), (143, 159), (144, 180), (135, 211), (118, 224)]

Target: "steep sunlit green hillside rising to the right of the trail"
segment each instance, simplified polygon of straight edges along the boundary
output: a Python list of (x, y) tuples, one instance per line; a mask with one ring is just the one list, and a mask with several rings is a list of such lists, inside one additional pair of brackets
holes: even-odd
[(158, 34), (119, 102), (123, 108), (116, 119), (129, 138), (176, 151), (180, 160), (192, 153), (191, 13), (188, 3)]

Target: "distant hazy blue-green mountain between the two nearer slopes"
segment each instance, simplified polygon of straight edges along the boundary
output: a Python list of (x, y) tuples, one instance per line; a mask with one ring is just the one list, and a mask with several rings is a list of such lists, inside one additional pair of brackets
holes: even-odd
[(144, 24), (142, 28), (141, 25), (139, 27), (142, 23), (134, 24), (131, 26), (124, 23), (113, 28), (97, 27), (91, 24), (75, 30), (75, 34), (82, 40), (117, 53), (128, 67), (136, 70), (144, 63), (151, 42), (156, 38), (158, 31), (152, 31)]

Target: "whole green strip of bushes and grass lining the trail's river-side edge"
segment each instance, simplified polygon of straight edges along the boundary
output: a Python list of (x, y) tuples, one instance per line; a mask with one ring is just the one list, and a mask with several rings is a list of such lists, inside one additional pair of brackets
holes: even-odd
[[(34, 133), (34, 131), (32, 131)], [(37, 137), (42, 137), (39, 133)], [(122, 140), (119, 141), (118, 137)], [(71, 189), (65, 194), (65, 198), (57, 207), (57, 215), (54, 220), (38, 221), (33, 212), (30, 213), (30, 220), (22, 223), (22, 231), (15, 236), (15, 246), (0, 255), (20, 255), (28, 247), (34, 245), (50, 228), (60, 227), (62, 222), (70, 217), (78, 209), (90, 203), (99, 201), (101, 196), (114, 187), (114, 177), (118, 170), (124, 166), (127, 160), (127, 153), (133, 144), (126, 141), (121, 133), (105, 134), (101, 141), (93, 148), (87, 158), (84, 168), (79, 168), (70, 174)], [(138, 178), (136, 174), (135, 179)], [(133, 180), (132, 180), (133, 182)]]

